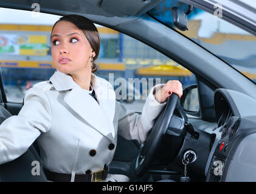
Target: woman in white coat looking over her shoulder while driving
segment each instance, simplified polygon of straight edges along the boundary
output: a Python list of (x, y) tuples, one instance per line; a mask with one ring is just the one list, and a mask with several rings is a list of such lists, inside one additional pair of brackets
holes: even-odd
[(0, 164), (18, 158), (37, 138), (49, 181), (128, 181), (108, 174), (117, 133), (143, 143), (168, 96), (181, 97), (181, 83), (154, 86), (137, 115), (116, 101), (108, 81), (94, 75), (100, 37), (89, 19), (64, 16), (50, 37), (57, 71), (27, 92), (18, 116), (0, 125)]

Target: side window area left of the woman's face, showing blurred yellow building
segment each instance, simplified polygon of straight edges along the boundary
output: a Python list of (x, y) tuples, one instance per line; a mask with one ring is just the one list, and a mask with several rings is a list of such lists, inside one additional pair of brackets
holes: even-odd
[(9, 102), (22, 103), (30, 87), (55, 72), (50, 31), (60, 16), (39, 14), (0, 8), (0, 67)]

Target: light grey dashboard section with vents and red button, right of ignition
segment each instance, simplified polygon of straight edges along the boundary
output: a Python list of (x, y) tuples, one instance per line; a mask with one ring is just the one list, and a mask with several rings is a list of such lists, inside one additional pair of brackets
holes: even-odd
[(206, 181), (256, 181), (256, 101), (234, 90), (218, 89), (218, 124), (206, 165)]

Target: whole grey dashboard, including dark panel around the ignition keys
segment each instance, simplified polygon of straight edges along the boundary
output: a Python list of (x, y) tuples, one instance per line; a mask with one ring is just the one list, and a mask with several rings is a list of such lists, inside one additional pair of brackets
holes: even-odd
[(193, 176), (209, 182), (256, 181), (256, 100), (243, 93), (217, 89), (216, 121), (189, 118), (199, 138), (187, 133), (175, 164), (188, 150), (195, 152)]

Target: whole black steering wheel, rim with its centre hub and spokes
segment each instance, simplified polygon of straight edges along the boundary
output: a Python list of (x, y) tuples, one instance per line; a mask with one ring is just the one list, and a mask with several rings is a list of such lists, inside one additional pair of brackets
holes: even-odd
[(178, 99), (179, 96), (176, 93), (173, 93), (167, 99), (167, 104), (157, 117), (156, 122), (154, 122), (145, 144), (141, 145), (135, 164), (136, 176), (144, 175), (150, 168), (154, 156), (161, 145), (162, 138), (166, 134), (170, 136), (170, 141), (172, 141), (172, 153), (168, 154), (172, 154), (174, 158), (181, 149), (186, 132), (184, 123), (187, 121), (187, 115), (185, 115)]

